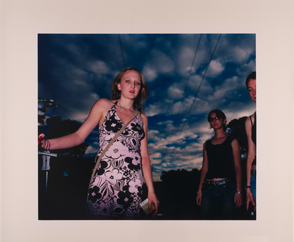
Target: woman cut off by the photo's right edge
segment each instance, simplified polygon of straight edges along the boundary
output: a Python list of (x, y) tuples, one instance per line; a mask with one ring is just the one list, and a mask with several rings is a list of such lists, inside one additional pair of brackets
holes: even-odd
[[(256, 72), (248, 75), (246, 86), (252, 101), (256, 102)], [(246, 207), (248, 210), (251, 202), (256, 210), (256, 112), (247, 118), (245, 128), (248, 140)]]

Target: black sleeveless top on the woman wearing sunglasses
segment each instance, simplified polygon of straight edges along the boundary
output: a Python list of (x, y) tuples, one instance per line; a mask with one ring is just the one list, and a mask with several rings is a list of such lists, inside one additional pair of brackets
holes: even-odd
[(232, 153), (232, 140), (228, 136), (221, 144), (212, 145), (212, 140), (207, 140), (205, 150), (208, 154), (208, 172), (205, 179), (230, 178), (235, 180), (235, 164)]

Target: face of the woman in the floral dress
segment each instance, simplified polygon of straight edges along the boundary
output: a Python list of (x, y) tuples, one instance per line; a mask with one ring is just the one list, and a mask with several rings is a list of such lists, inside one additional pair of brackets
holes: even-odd
[(122, 75), (120, 83), (118, 83), (118, 90), (121, 96), (129, 99), (135, 99), (140, 93), (141, 77), (136, 71), (126, 71)]

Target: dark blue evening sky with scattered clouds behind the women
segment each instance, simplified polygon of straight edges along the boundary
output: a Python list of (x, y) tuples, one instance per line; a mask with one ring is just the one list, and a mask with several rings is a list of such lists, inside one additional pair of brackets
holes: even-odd
[[(62, 105), (48, 109), (48, 117), (82, 123), (96, 100), (110, 97), (111, 81), (124, 65), (135, 66), (151, 89), (145, 113), (154, 180), (169, 169), (201, 168), (203, 142), (213, 133), (208, 113), (221, 109), (230, 122), (255, 111), (245, 86), (256, 66), (255, 35), (219, 37), (40, 34), (38, 95)], [(86, 142), (86, 155), (95, 156), (98, 128)]]

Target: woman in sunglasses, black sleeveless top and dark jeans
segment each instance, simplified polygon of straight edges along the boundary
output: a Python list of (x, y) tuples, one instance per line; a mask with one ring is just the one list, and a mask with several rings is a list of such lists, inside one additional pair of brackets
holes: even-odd
[(226, 115), (219, 109), (208, 114), (214, 137), (203, 145), (203, 165), (197, 205), (201, 219), (235, 219), (242, 205), (241, 156), (237, 139), (226, 135)]

